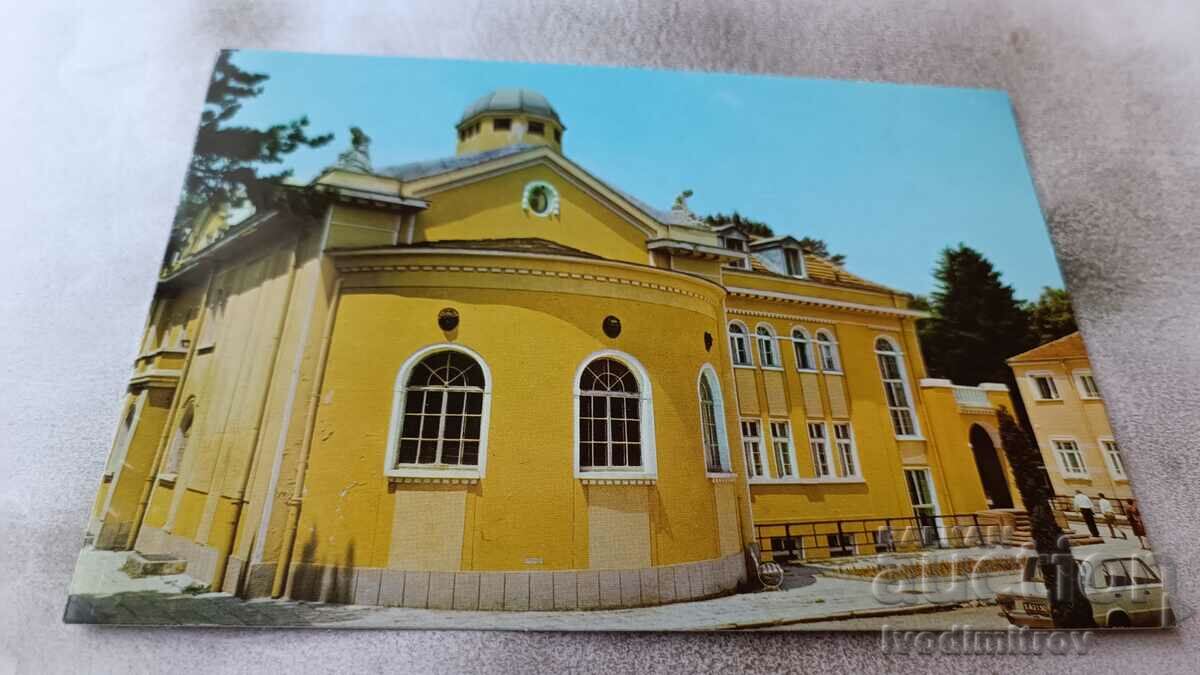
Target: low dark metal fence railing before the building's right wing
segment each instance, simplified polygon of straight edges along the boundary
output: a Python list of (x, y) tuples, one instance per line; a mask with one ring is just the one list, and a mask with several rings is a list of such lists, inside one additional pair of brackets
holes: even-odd
[(998, 518), (978, 513), (755, 525), (763, 560), (778, 563), (992, 545), (1009, 534)]

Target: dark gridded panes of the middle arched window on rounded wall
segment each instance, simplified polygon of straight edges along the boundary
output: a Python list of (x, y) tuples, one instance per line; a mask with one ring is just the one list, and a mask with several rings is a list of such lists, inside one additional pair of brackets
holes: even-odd
[(642, 392), (637, 376), (613, 358), (580, 375), (580, 470), (642, 468)]

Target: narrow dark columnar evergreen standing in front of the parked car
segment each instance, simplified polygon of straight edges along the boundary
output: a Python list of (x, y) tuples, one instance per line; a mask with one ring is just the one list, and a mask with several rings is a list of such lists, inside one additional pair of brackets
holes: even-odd
[(1000, 441), (1016, 479), (1016, 489), (1030, 514), (1038, 566), (1046, 586), (1050, 616), (1056, 628), (1092, 628), (1092, 603), (1084, 593), (1079, 565), (1070, 542), (1054, 519), (1052, 492), (1043, 478), (1042, 453), (1030, 443), (1028, 435), (1016, 425), (1007, 408), (996, 411)]

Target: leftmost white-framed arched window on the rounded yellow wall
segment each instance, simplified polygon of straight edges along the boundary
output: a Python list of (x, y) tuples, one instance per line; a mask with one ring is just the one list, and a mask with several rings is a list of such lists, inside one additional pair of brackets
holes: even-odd
[(467, 470), (478, 476), (487, 447), (490, 380), (482, 360), (463, 347), (439, 345), (414, 354), (396, 380), (386, 472)]

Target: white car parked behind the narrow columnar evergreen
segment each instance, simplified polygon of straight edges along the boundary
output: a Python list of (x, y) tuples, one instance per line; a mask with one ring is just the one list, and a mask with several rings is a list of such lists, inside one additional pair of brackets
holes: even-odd
[[(1141, 558), (1088, 556), (1075, 562), (1097, 626), (1165, 627), (1175, 623), (1162, 578)], [(1008, 621), (1016, 626), (1054, 628), (1037, 556), (1026, 561), (1019, 584), (996, 593), (996, 602)]]

